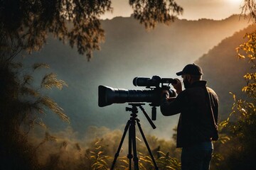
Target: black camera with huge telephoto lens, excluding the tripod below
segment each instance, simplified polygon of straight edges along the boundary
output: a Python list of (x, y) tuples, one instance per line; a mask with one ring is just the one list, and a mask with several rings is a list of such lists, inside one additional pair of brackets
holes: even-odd
[(174, 90), (171, 90), (169, 86), (169, 84), (176, 84), (176, 82), (176, 79), (166, 79), (159, 76), (153, 76), (151, 79), (147, 77), (135, 77), (133, 79), (134, 86), (145, 86), (149, 90), (114, 89), (100, 85), (98, 88), (98, 106), (105, 107), (112, 103), (126, 102), (146, 102), (150, 103), (150, 106), (160, 106), (161, 91), (168, 90), (169, 96), (176, 96)]

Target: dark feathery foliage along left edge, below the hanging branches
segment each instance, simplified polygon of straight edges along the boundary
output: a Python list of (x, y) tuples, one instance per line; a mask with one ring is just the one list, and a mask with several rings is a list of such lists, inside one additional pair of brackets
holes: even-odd
[[(33, 70), (45, 64), (37, 64)], [(0, 61), (0, 160), (4, 169), (37, 169), (35, 147), (28, 142), (28, 132), (34, 125), (46, 127), (41, 116), (53, 111), (64, 121), (69, 118), (52, 99), (45, 96), (43, 87), (35, 89), (32, 73), (26, 72), (21, 63)], [(49, 81), (51, 78), (48, 79)], [(55, 79), (57, 87), (65, 82)], [(27, 130), (27, 132), (26, 132)]]

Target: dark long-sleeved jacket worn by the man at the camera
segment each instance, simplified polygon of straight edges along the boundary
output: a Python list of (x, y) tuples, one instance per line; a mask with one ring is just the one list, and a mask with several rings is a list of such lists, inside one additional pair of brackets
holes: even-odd
[(164, 98), (161, 102), (163, 115), (181, 113), (177, 147), (189, 147), (198, 142), (210, 141), (213, 137), (215, 126), (208, 98), (218, 125), (218, 96), (213, 89), (206, 87), (206, 81), (196, 81), (188, 89), (181, 91), (173, 101)]

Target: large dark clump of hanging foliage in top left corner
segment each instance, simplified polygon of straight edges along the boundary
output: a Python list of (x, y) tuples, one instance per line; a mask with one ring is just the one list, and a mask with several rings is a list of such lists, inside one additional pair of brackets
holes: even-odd
[(110, 0), (1, 1), (1, 36), (33, 52), (43, 47), (48, 33), (53, 33), (90, 58), (104, 37), (99, 16), (112, 10), (110, 4)]

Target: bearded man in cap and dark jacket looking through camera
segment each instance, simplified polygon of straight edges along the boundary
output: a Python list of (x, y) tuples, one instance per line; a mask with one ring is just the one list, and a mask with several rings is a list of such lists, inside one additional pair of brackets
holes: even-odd
[(182, 170), (210, 169), (213, 153), (212, 140), (218, 140), (218, 96), (213, 89), (202, 81), (202, 69), (196, 64), (188, 64), (181, 72), (183, 78), (172, 84), (176, 89), (176, 98), (169, 98), (163, 91), (161, 113), (163, 115), (180, 114), (177, 129), (177, 147), (182, 147)]

